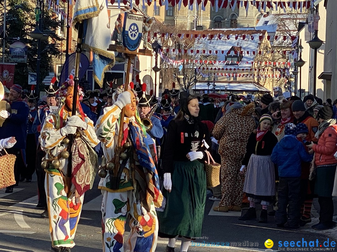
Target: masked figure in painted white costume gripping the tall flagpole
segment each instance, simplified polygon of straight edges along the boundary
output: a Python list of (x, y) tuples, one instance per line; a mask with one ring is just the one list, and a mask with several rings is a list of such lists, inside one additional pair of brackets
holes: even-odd
[[(84, 193), (92, 187), (97, 167), (93, 148), (98, 144), (93, 122), (83, 113), (79, 100), (83, 92), (78, 89), (76, 115), (72, 115), (74, 81), (63, 83), (60, 97), (65, 104), (44, 120), (39, 142), (46, 152), (41, 166), (47, 173), (45, 190), (49, 211), (51, 251), (65, 252), (75, 246), (73, 241), (80, 219)], [(69, 146), (68, 135), (74, 134)], [(68, 157), (73, 160), (71, 177), (67, 178)], [(76, 161), (76, 162), (74, 162)]]

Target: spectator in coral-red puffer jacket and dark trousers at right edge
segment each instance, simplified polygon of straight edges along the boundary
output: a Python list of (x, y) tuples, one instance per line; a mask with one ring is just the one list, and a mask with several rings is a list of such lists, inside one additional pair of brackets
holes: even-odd
[(334, 187), (334, 178), (336, 173), (337, 160), (334, 157), (337, 151), (337, 124), (333, 116), (332, 109), (325, 106), (317, 113), (319, 127), (315, 137), (318, 143), (311, 143), (315, 152), (315, 194), (318, 195), (319, 203), (319, 223), (313, 225), (316, 230), (326, 230), (334, 227), (332, 220), (334, 214), (334, 204), (332, 201), (332, 192)]

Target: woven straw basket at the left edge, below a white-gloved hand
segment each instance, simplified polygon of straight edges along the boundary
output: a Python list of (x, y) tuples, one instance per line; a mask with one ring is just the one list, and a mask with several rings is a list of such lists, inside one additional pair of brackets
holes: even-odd
[(0, 154), (0, 188), (15, 184), (14, 163), (17, 157), (4, 151), (6, 155)]

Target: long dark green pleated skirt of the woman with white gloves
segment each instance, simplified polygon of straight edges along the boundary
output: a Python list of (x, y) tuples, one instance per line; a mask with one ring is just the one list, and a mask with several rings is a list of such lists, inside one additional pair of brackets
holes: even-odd
[(157, 212), (159, 236), (200, 237), (206, 203), (206, 173), (204, 165), (192, 162), (175, 162), (172, 191), (163, 188), (166, 206)]

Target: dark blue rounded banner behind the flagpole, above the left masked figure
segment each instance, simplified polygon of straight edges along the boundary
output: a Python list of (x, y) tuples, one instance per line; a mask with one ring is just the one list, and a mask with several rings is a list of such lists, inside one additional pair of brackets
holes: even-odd
[[(69, 80), (70, 75), (72, 75), (73, 77), (75, 76), (75, 62), (76, 62), (76, 53), (74, 52), (69, 55), (69, 57), (65, 60), (63, 64), (61, 75), (59, 78), (58, 84), (59, 87), (62, 85), (62, 83)], [(79, 70), (80, 81), (85, 75), (88, 68), (89, 68), (89, 59), (85, 54), (81, 53), (80, 70)]]

